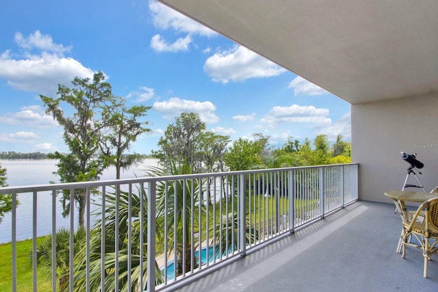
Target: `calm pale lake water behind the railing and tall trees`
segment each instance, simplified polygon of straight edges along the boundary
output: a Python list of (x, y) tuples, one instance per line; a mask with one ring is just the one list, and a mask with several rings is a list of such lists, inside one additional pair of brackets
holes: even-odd
[[(144, 176), (146, 169), (151, 166), (157, 166), (157, 159), (145, 159), (136, 167), (122, 172), (120, 178), (134, 178)], [(59, 179), (53, 172), (57, 171), (56, 160), (53, 159), (0, 159), (2, 168), (7, 170), (7, 183), (10, 187), (25, 185), (46, 185), (51, 181), (59, 183)], [(101, 180), (112, 180), (116, 178), (115, 168), (105, 170)], [(20, 204), (16, 209), (16, 239), (23, 240), (32, 237), (32, 194), (18, 195)], [(38, 214), (37, 214), (37, 234), (38, 236), (48, 235), (51, 233), (51, 195), (38, 196)], [(56, 226), (57, 228), (70, 226), (70, 219), (63, 218), (62, 204), (57, 200), (56, 206)], [(75, 224), (77, 218), (75, 218)], [(0, 243), (11, 241), (12, 234), (11, 213), (6, 213), (3, 221), (0, 223)]]

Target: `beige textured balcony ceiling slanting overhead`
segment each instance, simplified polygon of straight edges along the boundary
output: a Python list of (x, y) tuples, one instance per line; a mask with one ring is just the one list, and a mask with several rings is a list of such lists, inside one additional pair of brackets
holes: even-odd
[(438, 92), (436, 0), (159, 0), (352, 103)]

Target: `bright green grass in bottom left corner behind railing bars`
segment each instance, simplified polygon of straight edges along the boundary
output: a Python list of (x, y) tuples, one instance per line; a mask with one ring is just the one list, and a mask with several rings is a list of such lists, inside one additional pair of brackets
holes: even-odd
[[(38, 241), (44, 239), (40, 237)], [(32, 291), (31, 239), (16, 243), (17, 291)], [(0, 244), (0, 291), (12, 291), (12, 244)], [(37, 272), (38, 291), (51, 291), (51, 280)]]

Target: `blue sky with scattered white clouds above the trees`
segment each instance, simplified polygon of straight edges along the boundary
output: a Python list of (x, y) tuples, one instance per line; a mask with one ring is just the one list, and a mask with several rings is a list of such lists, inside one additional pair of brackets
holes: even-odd
[[(182, 111), (232, 140), (350, 141), (350, 104), (156, 1), (6, 1), (0, 10), (0, 151), (64, 152), (39, 94), (102, 71), (127, 105), (153, 107), (149, 153)], [(291, 52), (293, 53), (293, 52)]]

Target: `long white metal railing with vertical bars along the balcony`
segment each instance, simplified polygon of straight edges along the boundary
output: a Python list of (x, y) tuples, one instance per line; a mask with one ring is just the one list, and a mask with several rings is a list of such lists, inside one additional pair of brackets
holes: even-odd
[[(261, 243), (324, 217), (357, 196), (358, 165), (153, 176), (117, 181), (3, 187), (13, 194), (11, 287), (17, 290), (16, 197), (33, 200), (32, 267), (37, 291), (37, 213), (52, 196), (53, 291), (159, 291)], [(58, 242), (60, 191), (87, 198), (84, 230), (70, 204), (67, 250)], [(94, 200), (92, 202), (92, 200)], [(59, 233), (59, 232), (58, 232)], [(64, 256), (65, 258), (59, 258)], [(42, 267), (41, 267), (42, 268)]]

